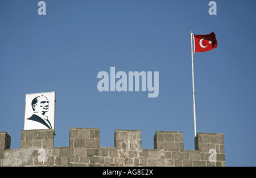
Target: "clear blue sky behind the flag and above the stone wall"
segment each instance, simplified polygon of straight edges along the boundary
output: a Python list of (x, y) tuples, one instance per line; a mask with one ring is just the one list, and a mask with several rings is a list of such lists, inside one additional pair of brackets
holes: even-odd
[[(256, 1), (0, 0), (0, 131), (20, 146), (26, 94), (56, 92), (54, 146), (69, 129), (141, 130), (154, 149), (156, 130), (184, 133), (194, 150), (191, 31), (214, 31), (217, 48), (195, 53), (197, 132), (223, 133), (226, 166), (256, 166)], [(159, 95), (100, 92), (100, 71), (159, 71)], [(117, 81), (117, 79), (116, 79)]]

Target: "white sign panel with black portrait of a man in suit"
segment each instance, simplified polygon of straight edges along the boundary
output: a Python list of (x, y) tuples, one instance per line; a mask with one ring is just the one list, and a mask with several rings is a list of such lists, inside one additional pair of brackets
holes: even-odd
[(55, 129), (55, 91), (26, 94), (24, 130)]

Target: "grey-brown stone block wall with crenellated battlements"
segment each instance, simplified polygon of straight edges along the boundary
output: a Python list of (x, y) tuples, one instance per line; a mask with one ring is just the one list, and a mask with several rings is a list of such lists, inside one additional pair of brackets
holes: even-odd
[(184, 150), (183, 132), (156, 131), (154, 149), (142, 149), (141, 130), (115, 130), (114, 147), (100, 146), (100, 129), (71, 128), (68, 147), (54, 147), (53, 135), (22, 130), (20, 148), (10, 149), (0, 132), (0, 166), (225, 166), (224, 134), (197, 133), (195, 150)]

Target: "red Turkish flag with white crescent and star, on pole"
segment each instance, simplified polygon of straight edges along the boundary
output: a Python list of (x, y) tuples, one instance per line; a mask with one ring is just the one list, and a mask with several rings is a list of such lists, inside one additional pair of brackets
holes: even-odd
[(193, 35), (194, 39), (194, 53), (206, 52), (217, 47), (217, 40), (215, 33), (208, 35)]

